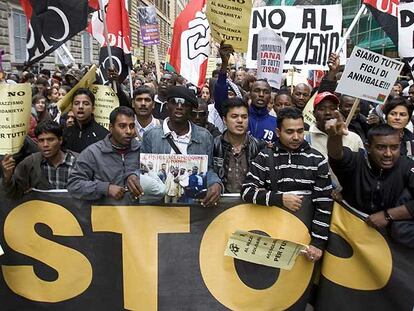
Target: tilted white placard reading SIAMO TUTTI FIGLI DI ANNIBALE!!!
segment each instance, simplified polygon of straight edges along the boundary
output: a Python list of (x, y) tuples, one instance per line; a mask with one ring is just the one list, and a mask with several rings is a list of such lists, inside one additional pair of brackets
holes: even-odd
[(404, 63), (355, 47), (336, 92), (382, 104)]

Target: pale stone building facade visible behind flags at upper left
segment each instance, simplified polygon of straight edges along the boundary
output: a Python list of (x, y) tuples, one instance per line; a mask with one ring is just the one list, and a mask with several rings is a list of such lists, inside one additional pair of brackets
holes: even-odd
[[(155, 5), (160, 24), (161, 43), (158, 45), (159, 60), (163, 62), (172, 38), (174, 20), (188, 3), (188, 0), (130, 0), (128, 9), (131, 26), (131, 45), (134, 60), (154, 61), (154, 48), (144, 47), (140, 37), (138, 23), (138, 7)], [(24, 68), (26, 59), (26, 16), (19, 0), (0, 1), (0, 50), (2, 55), (2, 66), (6, 72), (18, 71)], [(99, 59), (99, 46), (93, 37), (86, 31), (82, 31), (65, 43), (71, 52), (77, 65), (89, 65), (97, 63)], [(1, 51), (0, 51), (1, 52)], [(56, 53), (42, 59), (33, 66), (54, 69), (64, 67)]]

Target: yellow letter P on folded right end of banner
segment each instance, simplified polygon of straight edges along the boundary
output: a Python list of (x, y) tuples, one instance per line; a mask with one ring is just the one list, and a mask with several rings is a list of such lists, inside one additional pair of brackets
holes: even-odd
[(330, 230), (351, 245), (353, 255), (341, 258), (325, 252), (322, 264), (324, 277), (358, 290), (376, 290), (388, 283), (392, 271), (391, 250), (377, 230), (337, 203)]

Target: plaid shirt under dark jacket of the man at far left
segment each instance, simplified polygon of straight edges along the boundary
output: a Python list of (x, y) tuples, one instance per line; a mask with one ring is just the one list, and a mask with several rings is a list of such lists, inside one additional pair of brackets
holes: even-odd
[(43, 173), (53, 189), (67, 188), (69, 174), (75, 165), (75, 162), (76, 158), (70, 152), (65, 153), (62, 163), (58, 164), (56, 167), (50, 165), (45, 158), (42, 159), (41, 165)]

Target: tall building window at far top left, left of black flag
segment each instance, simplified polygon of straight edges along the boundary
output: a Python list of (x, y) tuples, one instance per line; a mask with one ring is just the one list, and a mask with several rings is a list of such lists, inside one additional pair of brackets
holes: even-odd
[(26, 16), (23, 11), (11, 11), (11, 27), (9, 28), (10, 52), (12, 61), (23, 63), (26, 60)]

